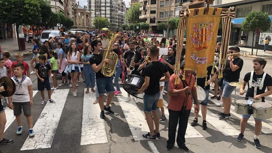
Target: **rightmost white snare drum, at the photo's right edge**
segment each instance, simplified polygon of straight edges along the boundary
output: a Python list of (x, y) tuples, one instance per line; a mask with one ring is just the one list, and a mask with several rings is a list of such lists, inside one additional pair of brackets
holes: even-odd
[(270, 119), (272, 118), (272, 104), (269, 103), (254, 103), (253, 107), (253, 117), (257, 119)]

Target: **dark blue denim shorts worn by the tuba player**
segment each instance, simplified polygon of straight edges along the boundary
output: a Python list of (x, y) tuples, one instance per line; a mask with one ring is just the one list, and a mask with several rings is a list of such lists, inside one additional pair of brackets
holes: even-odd
[(111, 77), (108, 78), (97, 78), (96, 79), (96, 86), (99, 95), (104, 95), (105, 90), (108, 93), (114, 92), (113, 80)]

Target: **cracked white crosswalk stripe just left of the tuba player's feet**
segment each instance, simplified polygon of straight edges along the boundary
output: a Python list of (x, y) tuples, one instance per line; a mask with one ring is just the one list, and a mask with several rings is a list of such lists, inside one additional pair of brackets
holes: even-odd
[[(84, 89), (86, 90), (87, 88)], [(105, 123), (100, 118), (99, 104), (92, 104), (95, 99), (95, 93), (84, 92), (80, 145), (108, 142)]]

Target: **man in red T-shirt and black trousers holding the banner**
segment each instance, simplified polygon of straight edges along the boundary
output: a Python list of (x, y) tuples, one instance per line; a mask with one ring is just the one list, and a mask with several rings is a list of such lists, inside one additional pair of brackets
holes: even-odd
[[(180, 74), (184, 75), (184, 66), (185, 60), (181, 62), (181, 70)], [(175, 144), (176, 138), (176, 126), (179, 124), (178, 133), (177, 133), (177, 145), (183, 151), (189, 151), (189, 149), (185, 146), (185, 133), (187, 129), (187, 122), (192, 108), (192, 98), (195, 102), (198, 101), (196, 87), (194, 87), (195, 79), (192, 77), (191, 84), (189, 83), (191, 71), (186, 71), (185, 80), (179, 79), (179, 84), (175, 85), (176, 75), (173, 74), (169, 80), (169, 121), (168, 121), (168, 141), (166, 150), (171, 151), (172, 147)], [(191, 93), (190, 93), (191, 92)], [(185, 93), (189, 93), (187, 101), (185, 101)], [(185, 108), (183, 107), (185, 103)]]

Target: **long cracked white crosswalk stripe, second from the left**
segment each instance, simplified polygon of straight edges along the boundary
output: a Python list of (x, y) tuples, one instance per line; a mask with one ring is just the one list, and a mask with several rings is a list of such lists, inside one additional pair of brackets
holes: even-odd
[(35, 137), (28, 137), (21, 151), (51, 147), (69, 90), (70, 89), (57, 89), (53, 91), (51, 98), (55, 100), (56, 103), (52, 104), (47, 102), (33, 126)]

